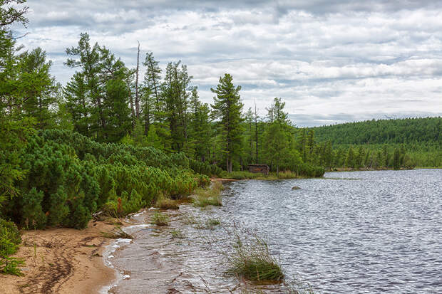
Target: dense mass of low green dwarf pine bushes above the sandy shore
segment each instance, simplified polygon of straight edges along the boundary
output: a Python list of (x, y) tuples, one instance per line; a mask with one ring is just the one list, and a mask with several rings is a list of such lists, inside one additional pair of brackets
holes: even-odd
[[(0, 215), (25, 229), (67, 226), (83, 229), (103, 210), (121, 217), (153, 206), (163, 194), (187, 196), (210, 183), (189, 169), (183, 153), (170, 156), (150, 147), (98, 143), (59, 130), (30, 135), (19, 154), (24, 177)], [(173, 203), (168, 201), (163, 206)]]

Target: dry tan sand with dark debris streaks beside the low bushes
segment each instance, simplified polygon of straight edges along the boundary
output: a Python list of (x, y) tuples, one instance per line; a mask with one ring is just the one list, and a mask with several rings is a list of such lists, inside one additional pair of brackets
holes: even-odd
[(98, 293), (115, 279), (115, 271), (105, 266), (102, 256), (111, 239), (101, 236), (101, 231), (113, 228), (91, 221), (84, 230), (25, 231), (15, 255), (25, 260), (24, 276), (0, 275), (0, 293)]

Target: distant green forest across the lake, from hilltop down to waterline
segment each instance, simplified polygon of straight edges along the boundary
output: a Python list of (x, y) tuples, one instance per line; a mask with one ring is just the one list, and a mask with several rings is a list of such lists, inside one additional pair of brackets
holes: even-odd
[(424, 117), (349, 122), (309, 131), (319, 145), (333, 146), (331, 169), (442, 167), (441, 126), (442, 117)]

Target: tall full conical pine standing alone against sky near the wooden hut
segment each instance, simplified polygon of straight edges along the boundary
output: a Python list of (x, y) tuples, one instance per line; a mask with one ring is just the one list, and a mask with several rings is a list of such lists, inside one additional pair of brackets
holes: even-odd
[(232, 172), (232, 161), (235, 155), (240, 153), (241, 145), (243, 107), (240, 98), (241, 86), (235, 88), (232, 75), (226, 73), (224, 77), (220, 77), (217, 88), (210, 88), (210, 90), (216, 94), (213, 98), (214, 104), (211, 105), (212, 115), (219, 118), (222, 125), (222, 135), (225, 139), (223, 152), (225, 152), (227, 172)]

